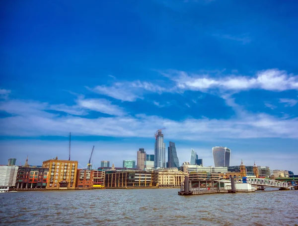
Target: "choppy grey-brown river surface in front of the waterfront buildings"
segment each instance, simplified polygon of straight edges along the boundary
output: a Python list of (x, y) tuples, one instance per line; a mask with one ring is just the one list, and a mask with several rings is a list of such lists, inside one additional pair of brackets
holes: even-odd
[(179, 196), (178, 191), (98, 189), (2, 193), (0, 225), (298, 226), (298, 190), (193, 196)]

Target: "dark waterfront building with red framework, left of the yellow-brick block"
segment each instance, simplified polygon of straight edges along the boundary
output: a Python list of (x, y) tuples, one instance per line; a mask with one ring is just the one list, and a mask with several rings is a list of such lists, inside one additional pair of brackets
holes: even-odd
[(36, 167), (19, 167), (16, 176), (16, 190), (46, 189), (49, 169)]

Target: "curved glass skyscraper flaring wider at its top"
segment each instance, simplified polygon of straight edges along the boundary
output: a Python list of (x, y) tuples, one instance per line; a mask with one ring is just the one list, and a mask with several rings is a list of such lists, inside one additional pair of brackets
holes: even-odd
[(213, 147), (212, 153), (215, 167), (229, 166), (231, 150), (226, 147)]

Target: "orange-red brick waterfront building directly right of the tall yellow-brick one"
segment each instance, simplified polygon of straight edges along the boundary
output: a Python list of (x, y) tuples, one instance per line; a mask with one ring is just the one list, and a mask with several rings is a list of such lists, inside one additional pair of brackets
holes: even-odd
[(76, 184), (77, 189), (93, 189), (104, 187), (104, 174), (102, 170), (77, 169)]

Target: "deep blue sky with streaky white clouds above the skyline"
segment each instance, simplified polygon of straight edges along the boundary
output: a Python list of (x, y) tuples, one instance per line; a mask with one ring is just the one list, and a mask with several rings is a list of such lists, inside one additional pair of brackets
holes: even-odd
[(298, 3), (0, 2), (0, 164), (116, 166), (165, 127), (180, 163), (298, 172)]

